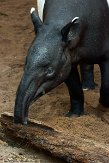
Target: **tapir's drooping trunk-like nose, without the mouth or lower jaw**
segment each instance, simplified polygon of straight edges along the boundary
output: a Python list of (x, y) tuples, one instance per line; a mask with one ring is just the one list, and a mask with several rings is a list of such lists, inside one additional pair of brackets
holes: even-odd
[(37, 90), (34, 80), (24, 72), (16, 93), (14, 122), (27, 124), (28, 108)]

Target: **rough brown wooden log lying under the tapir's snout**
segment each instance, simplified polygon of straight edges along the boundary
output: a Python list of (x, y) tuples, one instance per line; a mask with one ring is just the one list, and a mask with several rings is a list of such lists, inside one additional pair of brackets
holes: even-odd
[(5, 134), (28, 141), (33, 146), (49, 151), (69, 163), (108, 163), (109, 145), (57, 131), (48, 124), (29, 119), (27, 126), (13, 123), (12, 114), (1, 115)]

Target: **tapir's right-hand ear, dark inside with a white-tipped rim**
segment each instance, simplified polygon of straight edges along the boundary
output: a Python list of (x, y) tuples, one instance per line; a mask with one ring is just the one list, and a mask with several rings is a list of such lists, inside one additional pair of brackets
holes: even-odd
[(80, 40), (80, 31), (79, 17), (75, 17), (70, 23), (62, 28), (62, 41), (64, 41), (70, 49), (75, 48)]

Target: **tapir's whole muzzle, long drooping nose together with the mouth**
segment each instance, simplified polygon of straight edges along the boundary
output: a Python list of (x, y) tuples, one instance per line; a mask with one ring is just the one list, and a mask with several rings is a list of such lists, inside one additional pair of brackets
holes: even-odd
[[(38, 77), (37, 77), (38, 78)], [(45, 94), (44, 81), (24, 72), (24, 75), (19, 84), (15, 108), (14, 108), (14, 122), (27, 124), (28, 108), (40, 96)], [(46, 85), (46, 84), (45, 84)]]

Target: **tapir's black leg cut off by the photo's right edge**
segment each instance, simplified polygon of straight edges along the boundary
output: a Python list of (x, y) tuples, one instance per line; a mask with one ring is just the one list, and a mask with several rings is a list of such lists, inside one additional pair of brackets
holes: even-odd
[(109, 60), (100, 64), (101, 89), (99, 102), (104, 107), (109, 107)]

